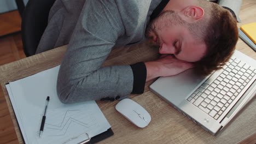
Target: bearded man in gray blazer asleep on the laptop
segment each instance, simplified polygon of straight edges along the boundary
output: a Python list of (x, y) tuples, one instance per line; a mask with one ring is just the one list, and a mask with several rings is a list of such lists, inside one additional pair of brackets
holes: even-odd
[[(145, 35), (159, 44), (158, 60), (101, 67), (113, 47)], [(63, 103), (114, 101), (143, 93), (158, 76), (191, 67), (211, 73), (228, 61), (237, 39), (229, 11), (205, 0), (57, 0), (37, 53), (69, 44), (57, 81)]]

